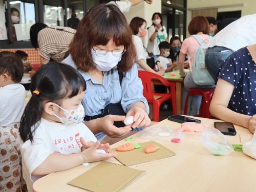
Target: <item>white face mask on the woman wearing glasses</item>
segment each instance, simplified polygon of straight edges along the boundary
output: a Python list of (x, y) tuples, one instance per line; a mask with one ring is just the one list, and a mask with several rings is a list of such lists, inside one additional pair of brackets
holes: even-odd
[(122, 59), (124, 51), (106, 52), (91, 49), (93, 62), (99, 71), (110, 71)]

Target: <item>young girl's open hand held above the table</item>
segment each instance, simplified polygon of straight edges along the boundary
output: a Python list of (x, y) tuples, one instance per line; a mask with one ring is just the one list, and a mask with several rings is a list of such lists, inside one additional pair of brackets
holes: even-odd
[(89, 146), (88, 148), (84, 149), (80, 155), (83, 158), (83, 161), (85, 163), (90, 163), (90, 162), (96, 162), (96, 161), (102, 161), (102, 160), (106, 160), (109, 159), (111, 157), (116, 157), (117, 153), (116, 152), (110, 152), (110, 153), (97, 153), (96, 150), (99, 148), (100, 146), (100, 142), (97, 141), (95, 143), (92, 144), (92, 146)]

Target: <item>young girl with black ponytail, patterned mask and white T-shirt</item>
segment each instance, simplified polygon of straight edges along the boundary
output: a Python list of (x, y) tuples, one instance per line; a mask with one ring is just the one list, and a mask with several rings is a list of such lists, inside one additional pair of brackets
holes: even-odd
[(108, 152), (109, 144), (96, 142), (82, 122), (85, 90), (86, 82), (80, 73), (62, 63), (50, 62), (33, 75), (32, 97), (19, 129), (29, 191), (32, 183), (42, 176), (116, 156), (97, 153), (97, 149)]

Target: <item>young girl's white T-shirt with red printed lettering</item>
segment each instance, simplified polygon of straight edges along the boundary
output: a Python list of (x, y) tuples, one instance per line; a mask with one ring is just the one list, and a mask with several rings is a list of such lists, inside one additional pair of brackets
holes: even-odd
[(23, 177), (29, 191), (33, 190), (33, 182), (40, 178), (31, 175), (33, 170), (44, 162), (49, 155), (81, 152), (80, 137), (83, 137), (86, 141), (97, 141), (94, 134), (82, 122), (64, 125), (43, 118), (41, 118), (41, 122), (33, 135), (32, 143), (30, 140), (20, 143)]

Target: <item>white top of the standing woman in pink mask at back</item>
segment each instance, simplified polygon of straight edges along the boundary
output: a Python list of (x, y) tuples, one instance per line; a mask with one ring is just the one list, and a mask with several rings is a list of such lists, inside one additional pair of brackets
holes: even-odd
[[(163, 31), (162, 31), (163, 29)], [(148, 44), (147, 44), (147, 51), (153, 53), (154, 55), (160, 55), (160, 50), (158, 48), (158, 45), (160, 42), (165, 41), (165, 39), (168, 37), (165, 27), (161, 27), (158, 32), (157, 36), (154, 41), (150, 40), (150, 37), (153, 35), (153, 33), (156, 31), (156, 28), (154, 25), (152, 25), (150, 28), (148, 28)]]

